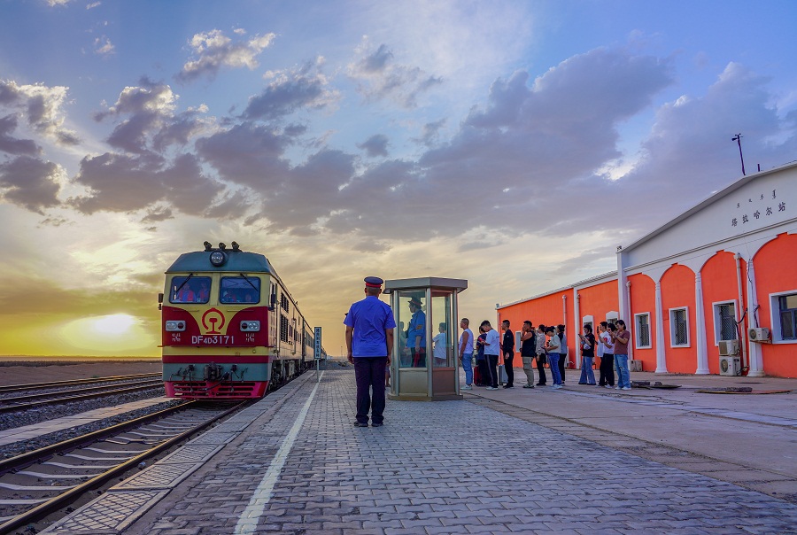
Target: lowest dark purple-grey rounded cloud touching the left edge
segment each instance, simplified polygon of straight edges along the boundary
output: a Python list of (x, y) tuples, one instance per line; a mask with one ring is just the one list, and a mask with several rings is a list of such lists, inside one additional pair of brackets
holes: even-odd
[(0, 165), (0, 190), (3, 198), (27, 210), (43, 214), (44, 208), (60, 204), (58, 165), (30, 156), (19, 156)]

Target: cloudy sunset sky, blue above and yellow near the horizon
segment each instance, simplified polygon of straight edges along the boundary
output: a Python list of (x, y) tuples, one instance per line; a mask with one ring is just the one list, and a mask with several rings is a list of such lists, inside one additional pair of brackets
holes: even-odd
[[(460, 312), (797, 159), (797, 3), (0, 0), (0, 355), (159, 355), (182, 252), (267, 256), (329, 354), (362, 279)], [(548, 322), (546, 318), (532, 318)]]

